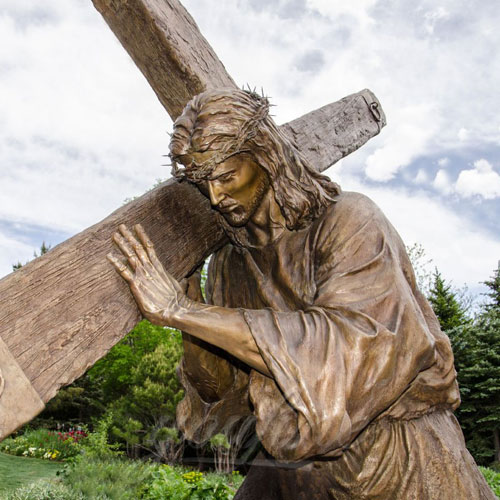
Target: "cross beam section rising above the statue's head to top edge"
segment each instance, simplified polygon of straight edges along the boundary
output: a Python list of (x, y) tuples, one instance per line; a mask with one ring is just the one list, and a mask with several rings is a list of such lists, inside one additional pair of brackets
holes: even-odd
[(177, 0), (92, 1), (172, 119), (207, 88), (236, 86)]

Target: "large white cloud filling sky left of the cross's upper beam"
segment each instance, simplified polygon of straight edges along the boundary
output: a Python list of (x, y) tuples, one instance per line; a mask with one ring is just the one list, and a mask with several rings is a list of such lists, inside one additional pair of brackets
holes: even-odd
[(168, 175), (170, 119), (91, 5), (13, 3), (0, 94), (1, 219), (76, 232)]

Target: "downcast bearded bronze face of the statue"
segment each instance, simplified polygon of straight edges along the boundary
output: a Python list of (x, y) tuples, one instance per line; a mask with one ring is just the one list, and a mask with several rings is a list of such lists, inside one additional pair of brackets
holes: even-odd
[(246, 153), (219, 163), (204, 183), (212, 206), (228, 224), (247, 224), (269, 190), (267, 173)]

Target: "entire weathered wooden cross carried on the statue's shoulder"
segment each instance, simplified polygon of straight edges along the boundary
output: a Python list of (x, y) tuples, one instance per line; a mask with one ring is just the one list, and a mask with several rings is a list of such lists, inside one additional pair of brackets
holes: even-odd
[[(236, 86), (178, 0), (92, 1), (172, 119), (203, 90)], [(323, 171), (384, 125), (379, 102), (363, 90), (282, 129)], [(128, 285), (105, 258), (120, 223), (141, 223), (177, 278), (226, 241), (209, 202), (170, 180), (0, 280), (0, 440), (140, 319)]]

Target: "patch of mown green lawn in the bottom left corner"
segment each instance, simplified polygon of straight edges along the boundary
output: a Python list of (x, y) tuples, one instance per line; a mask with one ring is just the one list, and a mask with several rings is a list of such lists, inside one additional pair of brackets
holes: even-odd
[(24, 458), (0, 453), (0, 498), (2, 493), (25, 486), (39, 479), (55, 477), (56, 472), (64, 464), (40, 460), (38, 458)]

